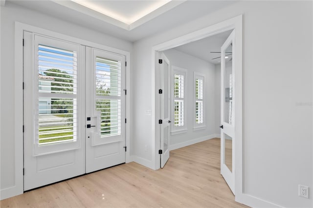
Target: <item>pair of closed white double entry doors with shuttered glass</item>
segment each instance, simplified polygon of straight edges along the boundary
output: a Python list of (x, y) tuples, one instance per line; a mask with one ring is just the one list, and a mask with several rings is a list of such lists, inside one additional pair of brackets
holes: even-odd
[(125, 163), (125, 56), (23, 36), (24, 190)]

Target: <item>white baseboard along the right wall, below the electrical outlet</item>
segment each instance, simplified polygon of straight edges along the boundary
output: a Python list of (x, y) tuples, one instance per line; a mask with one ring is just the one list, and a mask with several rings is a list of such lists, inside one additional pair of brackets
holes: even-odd
[(253, 207), (253, 208), (282, 208), (282, 206), (279, 206), (277, 204), (268, 202), (266, 200), (260, 199), (258, 197), (255, 196), (251, 196), (249, 194), (240, 194), (241, 196), (235, 197), (235, 201), (242, 203), (244, 205), (247, 205), (249, 207)]

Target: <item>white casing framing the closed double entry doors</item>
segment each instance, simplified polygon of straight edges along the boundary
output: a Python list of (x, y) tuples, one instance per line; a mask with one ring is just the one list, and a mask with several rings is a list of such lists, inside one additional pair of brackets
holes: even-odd
[[(14, 155), (15, 155), (15, 185), (13, 187), (8, 187), (1, 190), (1, 200), (5, 198), (9, 198), (12, 196), (16, 196), (23, 193), (23, 31), (43, 34), (46, 36), (62, 39), (62, 40), (70, 40), (71, 42), (76, 42), (81, 45), (90, 46), (93, 48), (98, 48), (101, 50), (110, 51), (113, 53), (125, 55), (126, 57), (126, 89), (127, 96), (126, 96), (126, 118), (130, 121), (130, 97), (131, 97), (131, 90), (130, 90), (130, 65), (131, 65), (131, 57), (130, 52), (116, 49), (110, 46), (105, 46), (99, 43), (89, 42), (83, 39), (74, 38), (68, 35), (64, 35), (61, 33), (53, 32), (50, 30), (46, 30), (40, 27), (32, 26), (29, 24), (21, 23), (16, 21), (15, 22), (15, 45), (14, 45), (14, 58), (15, 58), (15, 65), (14, 65), (14, 82), (15, 82), (15, 90), (14, 90)], [(130, 152), (130, 124), (126, 124), (126, 146), (129, 147), (128, 151), (126, 152), (126, 163), (132, 162)]]

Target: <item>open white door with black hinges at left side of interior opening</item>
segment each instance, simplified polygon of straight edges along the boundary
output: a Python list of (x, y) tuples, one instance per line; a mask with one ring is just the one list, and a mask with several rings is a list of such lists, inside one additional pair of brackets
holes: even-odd
[(163, 168), (170, 158), (170, 149), (169, 149), (169, 139), (170, 139), (170, 62), (164, 55), (161, 53), (161, 143), (160, 149), (162, 150), (161, 159), (161, 168)]

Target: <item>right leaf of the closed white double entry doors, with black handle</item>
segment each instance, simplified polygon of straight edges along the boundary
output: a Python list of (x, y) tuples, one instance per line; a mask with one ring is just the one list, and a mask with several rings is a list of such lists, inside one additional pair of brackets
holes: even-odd
[(125, 163), (125, 56), (86, 47), (86, 172)]

